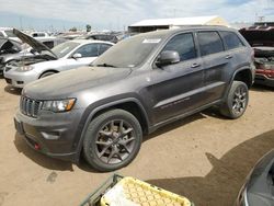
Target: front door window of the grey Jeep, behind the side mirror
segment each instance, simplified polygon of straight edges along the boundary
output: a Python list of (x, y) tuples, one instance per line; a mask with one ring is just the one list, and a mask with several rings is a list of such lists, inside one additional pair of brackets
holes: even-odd
[(168, 42), (163, 50), (178, 52), (181, 61), (197, 57), (193, 35), (191, 33), (174, 36)]

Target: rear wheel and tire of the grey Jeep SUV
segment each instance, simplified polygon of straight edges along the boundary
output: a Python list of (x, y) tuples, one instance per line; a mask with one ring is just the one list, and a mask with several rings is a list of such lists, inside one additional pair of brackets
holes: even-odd
[(249, 89), (242, 81), (233, 81), (225, 103), (220, 106), (220, 114), (228, 118), (239, 118), (243, 115), (249, 103)]

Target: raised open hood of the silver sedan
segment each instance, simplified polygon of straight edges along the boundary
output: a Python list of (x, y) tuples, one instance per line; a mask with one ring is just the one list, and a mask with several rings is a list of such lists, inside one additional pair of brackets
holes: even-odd
[(41, 43), (41, 42), (36, 41), (35, 38), (33, 38), (33, 37), (26, 35), (26, 34), (20, 32), (16, 28), (13, 28), (13, 34), (15, 34), (23, 43), (28, 44), (31, 47), (33, 47), (38, 53), (42, 53), (43, 50), (47, 50), (47, 52), (49, 52), (57, 59), (56, 54), (54, 54), (54, 52), (50, 50), (50, 48), (48, 48), (43, 43)]

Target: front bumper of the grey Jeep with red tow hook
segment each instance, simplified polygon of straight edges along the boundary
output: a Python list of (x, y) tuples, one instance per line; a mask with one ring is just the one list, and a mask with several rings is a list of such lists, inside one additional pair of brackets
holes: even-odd
[(42, 112), (39, 117), (33, 118), (18, 111), (14, 126), (33, 149), (53, 158), (78, 162), (80, 136), (76, 134), (80, 122), (79, 112)]

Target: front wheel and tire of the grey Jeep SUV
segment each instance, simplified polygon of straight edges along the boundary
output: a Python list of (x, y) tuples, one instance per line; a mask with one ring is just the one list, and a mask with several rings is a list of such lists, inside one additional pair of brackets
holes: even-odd
[(94, 169), (107, 172), (130, 163), (142, 141), (137, 118), (123, 110), (112, 110), (96, 116), (88, 126), (83, 154)]

